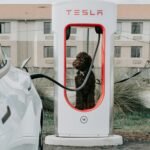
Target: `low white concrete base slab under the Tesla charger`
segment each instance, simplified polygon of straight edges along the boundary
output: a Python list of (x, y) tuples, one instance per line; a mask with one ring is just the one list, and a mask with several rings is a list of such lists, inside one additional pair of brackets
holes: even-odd
[(123, 144), (122, 136), (112, 135), (101, 138), (66, 138), (50, 135), (45, 138), (45, 144), (57, 146), (77, 146), (77, 147), (94, 147), (94, 146), (117, 146)]

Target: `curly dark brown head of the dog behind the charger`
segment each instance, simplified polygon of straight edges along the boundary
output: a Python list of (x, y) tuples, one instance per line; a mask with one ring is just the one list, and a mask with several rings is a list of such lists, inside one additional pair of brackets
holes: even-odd
[(75, 61), (73, 62), (73, 67), (79, 71), (87, 71), (91, 65), (92, 58), (86, 52), (80, 52)]

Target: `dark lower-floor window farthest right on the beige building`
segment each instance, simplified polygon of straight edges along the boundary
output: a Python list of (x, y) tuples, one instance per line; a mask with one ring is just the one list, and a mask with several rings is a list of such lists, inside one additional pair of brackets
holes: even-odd
[(131, 57), (132, 58), (139, 58), (141, 57), (141, 46), (132, 46), (131, 47)]

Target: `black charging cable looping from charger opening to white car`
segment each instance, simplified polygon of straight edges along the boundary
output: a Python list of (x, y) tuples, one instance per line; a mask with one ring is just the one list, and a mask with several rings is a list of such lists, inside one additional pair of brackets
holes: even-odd
[[(69, 28), (69, 30), (70, 30), (70, 28)], [(103, 33), (103, 31), (102, 31), (102, 29), (101, 29), (100, 27), (95, 27), (95, 31), (96, 31), (96, 33), (98, 34), (98, 41), (97, 41), (96, 49), (95, 49), (95, 52), (94, 52), (94, 55), (93, 55), (93, 58), (92, 58), (91, 65), (90, 65), (90, 67), (89, 67), (89, 71), (88, 71), (88, 73), (87, 73), (87, 75), (86, 75), (86, 78), (84, 79), (83, 83), (82, 83), (78, 88), (68, 88), (68, 87), (62, 85), (61, 83), (57, 82), (57, 81), (54, 80), (53, 78), (51, 78), (51, 77), (49, 77), (49, 76), (47, 76), (47, 75), (44, 75), (44, 74), (32, 74), (32, 75), (30, 75), (30, 76), (31, 76), (31, 79), (33, 80), (33, 79), (38, 79), (38, 78), (46, 78), (46, 79), (48, 79), (48, 80), (54, 82), (54, 83), (57, 84), (58, 86), (60, 86), (60, 87), (62, 87), (62, 88), (64, 88), (64, 89), (66, 89), (66, 90), (68, 90), (68, 91), (79, 91), (79, 90), (83, 89), (83, 87), (84, 87), (85, 84), (87, 83), (87, 81), (88, 81), (88, 79), (89, 79), (89, 76), (90, 76), (90, 74), (91, 74), (91, 72), (92, 72), (92, 68), (93, 68), (93, 64), (94, 64), (94, 61), (95, 61), (95, 57), (96, 57), (96, 54), (97, 54), (97, 51), (98, 51), (98, 47), (99, 47), (99, 44), (100, 44), (100, 36), (101, 36), (101, 34)], [(68, 31), (68, 30), (66, 31), (66, 33), (67, 33), (66, 39), (69, 39), (68, 32), (70, 32), (70, 31)]]

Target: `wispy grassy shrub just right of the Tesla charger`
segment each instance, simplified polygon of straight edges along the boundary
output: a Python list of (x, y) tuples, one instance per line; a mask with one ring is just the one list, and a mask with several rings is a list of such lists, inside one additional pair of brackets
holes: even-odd
[(114, 86), (115, 111), (127, 113), (141, 111), (144, 108), (138, 96), (139, 88), (135, 83), (119, 83)]

